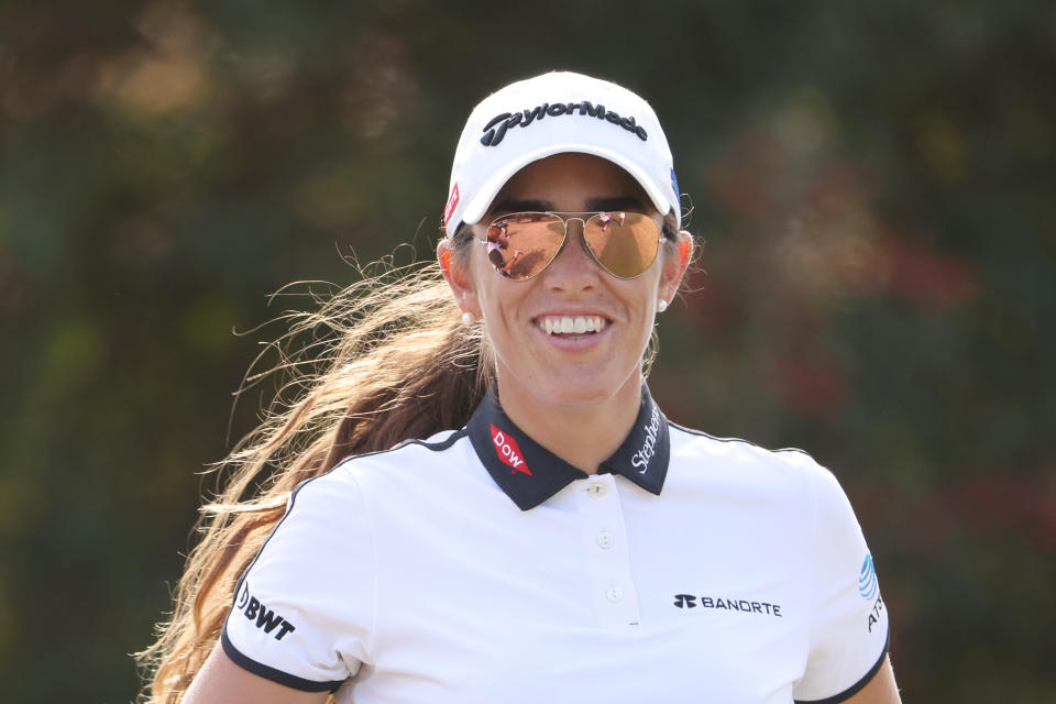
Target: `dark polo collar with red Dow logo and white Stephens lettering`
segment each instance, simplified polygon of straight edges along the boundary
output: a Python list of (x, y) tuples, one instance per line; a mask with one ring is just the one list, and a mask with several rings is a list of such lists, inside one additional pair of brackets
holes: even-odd
[[(521, 510), (535, 508), (573, 480), (587, 475), (528, 437), (506, 417), (493, 391), (485, 394), (470, 422), (470, 440), (495, 483)], [(641, 385), (641, 408), (630, 433), (598, 472), (623, 474), (659, 495), (668, 474), (671, 447), (668, 419)]]

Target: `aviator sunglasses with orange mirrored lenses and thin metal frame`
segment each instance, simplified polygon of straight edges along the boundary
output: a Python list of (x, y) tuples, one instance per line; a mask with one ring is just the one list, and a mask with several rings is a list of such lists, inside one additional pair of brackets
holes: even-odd
[(524, 282), (554, 260), (572, 220), (583, 224), (586, 251), (616, 278), (641, 276), (667, 242), (657, 221), (640, 212), (512, 212), (495, 219), (480, 242), (496, 272)]

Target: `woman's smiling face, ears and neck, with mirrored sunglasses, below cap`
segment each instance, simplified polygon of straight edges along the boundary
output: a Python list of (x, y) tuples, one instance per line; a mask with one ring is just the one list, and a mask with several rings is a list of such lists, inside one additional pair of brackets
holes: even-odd
[[(639, 212), (628, 213), (630, 208)], [(530, 212), (510, 212), (522, 209)], [(562, 215), (547, 215), (552, 212)], [(626, 227), (628, 219), (636, 226)], [(525, 166), (499, 191), (485, 221), (492, 224), (463, 227), (438, 248), (439, 258), (449, 262), (444, 273), (455, 300), (484, 321), (507, 414), (590, 473), (623, 441), (638, 413), (642, 354), (657, 302), (678, 289), (692, 240), (672, 233), (657, 261), (662, 239), (657, 208), (623, 168), (583, 153)], [(477, 248), (455, 250), (460, 242), (486, 242), (495, 223), (506, 229), (509, 248), (536, 254), (530, 265), (515, 267), (519, 275), (495, 276), (494, 262)], [(632, 243), (640, 238), (648, 248), (629, 276), (604, 267), (609, 250), (632, 246), (609, 245), (616, 238)], [(448, 256), (451, 252), (455, 255)], [(574, 414), (573, 422), (568, 414)]]

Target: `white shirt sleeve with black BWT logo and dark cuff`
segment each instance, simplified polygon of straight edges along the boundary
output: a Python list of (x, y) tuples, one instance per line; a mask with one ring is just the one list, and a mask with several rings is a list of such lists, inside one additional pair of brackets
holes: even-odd
[(286, 686), (336, 690), (369, 661), (373, 560), (351, 474), (338, 468), (301, 484), (235, 586), (224, 652)]

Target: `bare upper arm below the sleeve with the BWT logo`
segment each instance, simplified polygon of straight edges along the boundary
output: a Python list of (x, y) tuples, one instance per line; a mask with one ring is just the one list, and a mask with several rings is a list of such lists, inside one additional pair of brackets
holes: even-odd
[(322, 704), (326, 701), (327, 692), (301, 692), (243, 670), (231, 661), (219, 642), (184, 697), (184, 704)]

